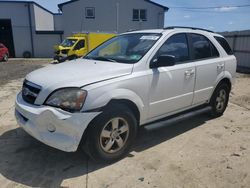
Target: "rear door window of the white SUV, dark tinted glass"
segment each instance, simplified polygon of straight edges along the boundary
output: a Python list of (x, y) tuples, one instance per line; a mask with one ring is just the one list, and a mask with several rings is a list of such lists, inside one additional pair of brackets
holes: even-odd
[(190, 34), (193, 59), (207, 59), (219, 57), (216, 47), (203, 35)]

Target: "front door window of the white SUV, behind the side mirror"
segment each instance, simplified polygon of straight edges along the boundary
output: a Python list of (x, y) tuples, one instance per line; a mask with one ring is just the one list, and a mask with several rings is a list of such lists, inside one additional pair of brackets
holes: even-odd
[(181, 64), (189, 60), (188, 42), (185, 33), (175, 34), (167, 39), (157, 52), (157, 57), (161, 55), (172, 55), (176, 64)]

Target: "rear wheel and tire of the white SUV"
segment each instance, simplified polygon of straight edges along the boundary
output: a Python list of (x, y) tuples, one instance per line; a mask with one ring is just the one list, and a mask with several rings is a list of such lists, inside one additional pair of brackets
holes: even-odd
[(220, 117), (223, 115), (227, 108), (229, 100), (230, 87), (226, 83), (219, 84), (210, 100), (210, 106), (212, 107), (212, 117)]

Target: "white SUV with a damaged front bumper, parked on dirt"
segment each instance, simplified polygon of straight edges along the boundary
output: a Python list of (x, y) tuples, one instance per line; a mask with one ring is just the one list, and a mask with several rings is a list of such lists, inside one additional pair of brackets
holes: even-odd
[(219, 34), (169, 27), (116, 36), (81, 59), (27, 75), (16, 119), (41, 142), (93, 159), (129, 152), (141, 125), (201, 105), (223, 114), (236, 58)]

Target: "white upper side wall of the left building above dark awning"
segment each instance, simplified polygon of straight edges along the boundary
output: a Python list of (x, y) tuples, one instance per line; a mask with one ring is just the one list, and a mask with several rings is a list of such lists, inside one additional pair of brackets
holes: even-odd
[(38, 31), (54, 30), (54, 15), (45, 11), (36, 4), (32, 5), (35, 18), (35, 29)]

